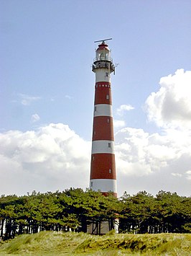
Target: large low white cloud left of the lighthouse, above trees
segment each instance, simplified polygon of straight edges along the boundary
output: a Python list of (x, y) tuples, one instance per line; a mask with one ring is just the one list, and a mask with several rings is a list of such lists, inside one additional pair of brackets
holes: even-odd
[(67, 125), (0, 133), (0, 194), (85, 188), (89, 167), (90, 143)]

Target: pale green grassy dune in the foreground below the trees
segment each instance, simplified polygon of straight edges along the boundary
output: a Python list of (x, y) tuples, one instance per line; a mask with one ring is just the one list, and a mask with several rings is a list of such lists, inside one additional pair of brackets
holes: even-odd
[(0, 244), (0, 255), (191, 255), (191, 234), (106, 234), (39, 232)]

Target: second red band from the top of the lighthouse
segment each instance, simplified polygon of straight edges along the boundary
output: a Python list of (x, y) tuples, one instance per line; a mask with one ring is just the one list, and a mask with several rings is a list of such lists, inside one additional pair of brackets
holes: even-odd
[(93, 118), (93, 141), (114, 141), (113, 118), (109, 116), (96, 116)]

